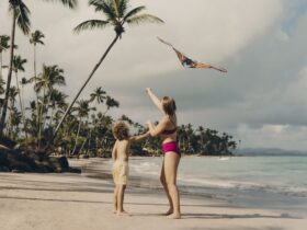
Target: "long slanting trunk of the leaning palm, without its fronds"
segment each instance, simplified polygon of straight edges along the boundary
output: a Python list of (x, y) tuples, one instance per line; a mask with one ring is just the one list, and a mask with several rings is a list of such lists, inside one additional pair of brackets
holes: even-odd
[(81, 89), (79, 90), (79, 92), (77, 93), (77, 95), (75, 96), (75, 99), (72, 100), (72, 102), (70, 103), (70, 105), (68, 106), (68, 108), (66, 110), (64, 116), (61, 117), (61, 120), (59, 122), (59, 124), (57, 125), (54, 135), (52, 136), (50, 140), (48, 141), (45, 150), (47, 150), (49, 148), (49, 146), (52, 145), (52, 142), (54, 141), (54, 138), (56, 137), (62, 122), (65, 120), (66, 116), (68, 115), (68, 113), (70, 112), (72, 105), (75, 104), (75, 102), (77, 101), (77, 99), (79, 97), (79, 95), (81, 94), (81, 92), (83, 91), (83, 89), (86, 88), (86, 85), (89, 83), (89, 81), (91, 80), (91, 78), (93, 77), (93, 74), (95, 73), (95, 71), (98, 70), (98, 68), (100, 67), (100, 65), (102, 64), (102, 61), (104, 60), (104, 58), (106, 57), (106, 55), (109, 54), (109, 51), (111, 50), (111, 48), (114, 46), (114, 44), (116, 43), (116, 41), (118, 39), (120, 35), (116, 35), (115, 38), (112, 41), (112, 43), (110, 44), (110, 46), (107, 47), (107, 49), (105, 50), (105, 53), (103, 54), (103, 56), (100, 58), (99, 62), (94, 66), (93, 70), (91, 71), (90, 76), (88, 77), (88, 80), (84, 82), (84, 84), (81, 87)]

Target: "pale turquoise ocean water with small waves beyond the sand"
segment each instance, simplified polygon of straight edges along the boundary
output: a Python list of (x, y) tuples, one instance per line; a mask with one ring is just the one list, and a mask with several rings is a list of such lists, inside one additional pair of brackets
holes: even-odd
[[(162, 158), (133, 157), (129, 186), (161, 189)], [(111, 160), (83, 169), (111, 179)], [(307, 214), (307, 156), (182, 157), (178, 185), (182, 194), (225, 199), (237, 206)]]

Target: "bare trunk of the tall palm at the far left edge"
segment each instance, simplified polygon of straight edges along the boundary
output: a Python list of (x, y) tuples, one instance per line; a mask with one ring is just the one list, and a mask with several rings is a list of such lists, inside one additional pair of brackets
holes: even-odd
[(8, 102), (9, 102), (9, 91), (11, 87), (11, 80), (12, 80), (12, 71), (13, 71), (13, 57), (14, 57), (14, 41), (15, 41), (15, 27), (16, 27), (16, 12), (13, 10), (13, 24), (12, 24), (12, 34), (11, 34), (11, 57), (10, 57), (10, 66), (9, 66), (9, 73), (8, 73), (8, 80), (7, 80), (7, 90), (5, 90), (5, 97), (4, 97), (4, 105), (2, 108), (1, 119), (0, 119), (0, 137), (3, 135), (4, 129), (4, 123), (7, 117), (7, 111), (8, 111)]

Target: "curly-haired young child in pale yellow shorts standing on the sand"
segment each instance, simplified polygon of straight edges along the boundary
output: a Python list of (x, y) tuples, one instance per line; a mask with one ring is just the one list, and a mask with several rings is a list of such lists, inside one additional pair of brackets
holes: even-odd
[(124, 122), (115, 124), (112, 129), (116, 141), (112, 150), (113, 159), (113, 180), (115, 183), (114, 189), (114, 214), (128, 215), (124, 210), (124, 193), (128, 182), (128, 158), (130, 143), (133, 141), (143, 140), (149, 136), (149, 131), (139, 136), (129, 136), (129, 128)]

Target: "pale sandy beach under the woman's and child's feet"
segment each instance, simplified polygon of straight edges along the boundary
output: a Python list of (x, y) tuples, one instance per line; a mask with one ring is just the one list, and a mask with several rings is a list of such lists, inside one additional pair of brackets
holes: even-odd
[(186, 194), (181, 196), (182, 219), (167, 219), (163, 192), (144, 187), (127, 188), (125, 209), (132, 216), (116, 216), (113, 188), (111, 180), (83, 174), (1, 173), (1, 230), (305, 230), (307, 226), (305, 215)]

